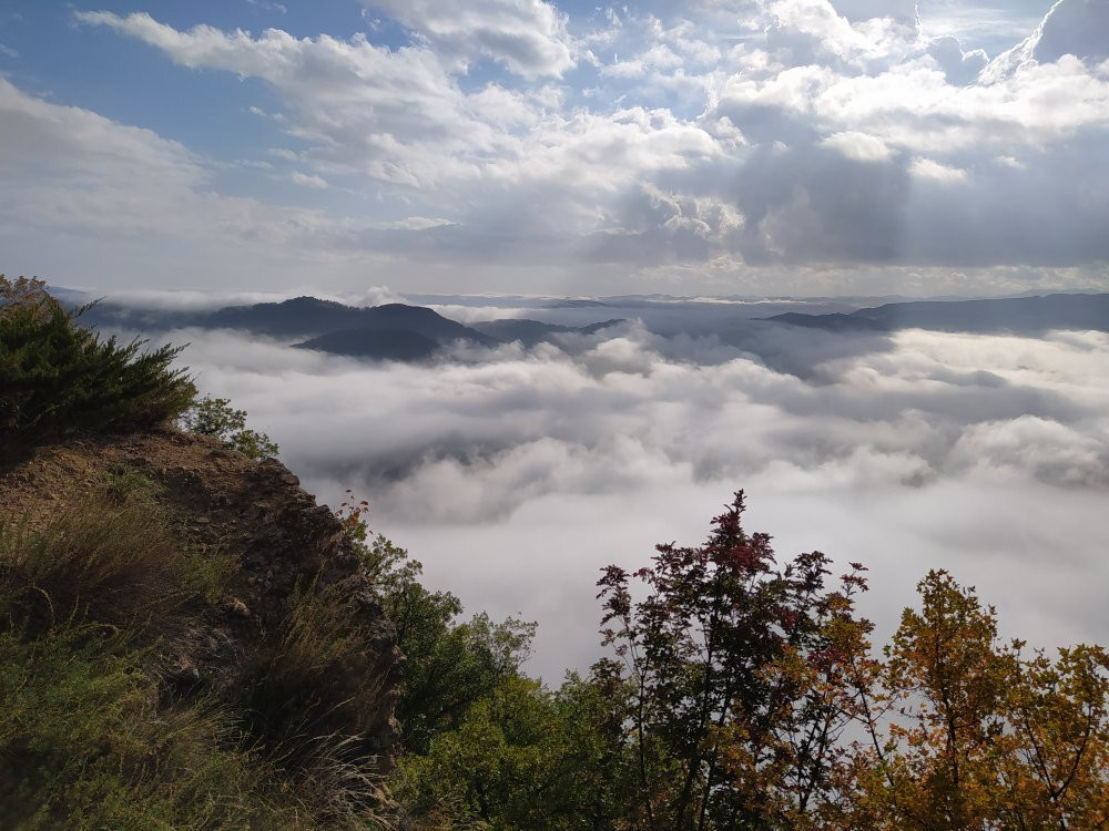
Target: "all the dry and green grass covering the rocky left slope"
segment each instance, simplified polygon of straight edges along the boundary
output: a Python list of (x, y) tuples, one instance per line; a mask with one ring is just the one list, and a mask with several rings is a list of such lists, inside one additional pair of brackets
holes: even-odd
[(161, 504), (120, 470), (43, 525), (0, 523), (0, 828), (383, 828), (379, 679), (350, 606), (298, 592), (242, 698), (183, 696), (161, 654), (235, 565)]

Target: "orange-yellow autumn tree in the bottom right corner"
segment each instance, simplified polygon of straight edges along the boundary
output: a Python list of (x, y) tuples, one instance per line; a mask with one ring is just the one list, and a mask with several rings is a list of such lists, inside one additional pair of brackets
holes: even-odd
[(944, 571), (918, 584), (871, 677), (852, 828), (1092, 829), (1109, 821), (1109, 656), (1021, 654)]

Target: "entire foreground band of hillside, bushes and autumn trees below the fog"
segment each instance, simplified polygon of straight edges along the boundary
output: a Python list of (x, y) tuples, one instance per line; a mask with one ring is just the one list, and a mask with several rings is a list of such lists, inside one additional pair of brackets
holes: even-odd
[(547, 685), (533, 624), (316, 505), (172, 348), (0, 298), (0, 828), (1109, 823), (1109, 655), (1001, 642), (950, 574), (878, 647), (865, 568), (780, 557), (739, 492), (601, 572), (608, 657)]

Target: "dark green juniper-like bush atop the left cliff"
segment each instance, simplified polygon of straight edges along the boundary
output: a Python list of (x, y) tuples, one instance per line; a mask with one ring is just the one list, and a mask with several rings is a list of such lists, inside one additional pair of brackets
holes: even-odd
[(0, 275), (0, 454), (70, 432), (129, 431), (180, 414), (196, 388), (172, 369), (181, 347), (143, 351), (75, 324), (45, 284)]

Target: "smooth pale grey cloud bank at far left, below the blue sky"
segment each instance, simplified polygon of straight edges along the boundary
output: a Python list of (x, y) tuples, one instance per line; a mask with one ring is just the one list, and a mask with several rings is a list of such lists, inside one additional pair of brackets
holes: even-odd
[(2, 78), (0, 146), (6, 269), (102, 289), (95, 264), (131, 285), (159, 275), (194, 288), (226, 285), (228, 270), (265, 268), (287, 285), (312, 263), (344, 267), (352, 229), (342, 220), (221, 195), (214, 166), (180, 143)]

